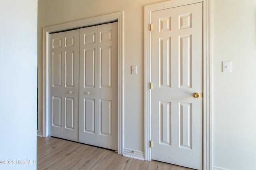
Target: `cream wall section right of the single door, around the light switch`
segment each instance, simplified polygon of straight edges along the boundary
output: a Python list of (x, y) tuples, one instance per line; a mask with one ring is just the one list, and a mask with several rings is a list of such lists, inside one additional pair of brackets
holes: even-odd
[[(212, 0), (213, 166), (256, 169), (256, 1)], [(222, 72), (232, 61), (232, 72)]]

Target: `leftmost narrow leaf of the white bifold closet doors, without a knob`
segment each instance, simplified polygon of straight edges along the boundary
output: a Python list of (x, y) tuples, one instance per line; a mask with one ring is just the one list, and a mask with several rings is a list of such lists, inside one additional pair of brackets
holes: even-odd
[(63, 33), (49, 35), (49, 135), (63, 138)]

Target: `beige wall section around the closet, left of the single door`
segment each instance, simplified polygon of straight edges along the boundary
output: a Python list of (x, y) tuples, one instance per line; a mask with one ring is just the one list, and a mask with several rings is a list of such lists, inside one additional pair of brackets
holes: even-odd
[[(38, 1), (38, 130), (42, 131), (42, 28), (124, 11), (124, 148), (144, 152), (144, 6), (164, 0)], [(131, 74), (138, 65), (138, 74)]]

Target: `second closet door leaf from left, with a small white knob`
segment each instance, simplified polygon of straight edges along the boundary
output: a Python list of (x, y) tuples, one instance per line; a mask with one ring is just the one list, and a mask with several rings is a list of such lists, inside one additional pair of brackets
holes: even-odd
[(64, 35), (64, 133), (63, 138), (78, 142), (79, 107), (79, 30)]

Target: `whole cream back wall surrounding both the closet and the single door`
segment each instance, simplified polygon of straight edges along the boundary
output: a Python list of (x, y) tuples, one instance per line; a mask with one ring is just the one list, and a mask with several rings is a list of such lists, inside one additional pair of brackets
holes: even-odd
[[(124, 11), (124, 148), (144, 152), (144, 6), (165, 0), (39, 0), (39, 118), (42, 28)], [(212, 166), (256, 169), (256, 1), (212, 0)], [(232, 61), (232, 73), (221, 62)], [(138, 75), (130, 66), (138, 65)]]

